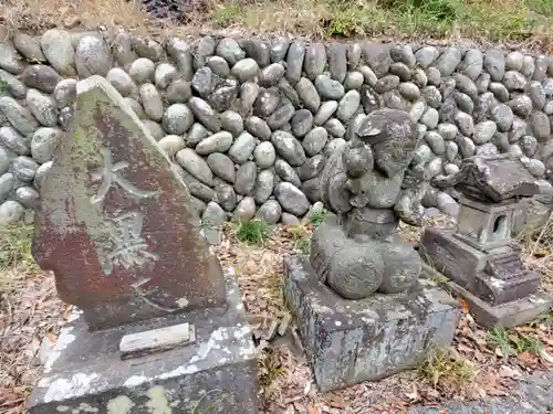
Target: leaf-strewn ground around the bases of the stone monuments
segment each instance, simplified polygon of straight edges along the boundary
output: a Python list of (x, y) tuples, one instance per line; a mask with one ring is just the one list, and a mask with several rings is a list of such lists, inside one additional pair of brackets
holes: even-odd
[[(448, 219), (432, 225), (450, 225)], [(288, 319), (281, 289), (283, 258), (304, 250), (312, 224), (276, 226), (262, 245), (237, 240), (237, 229), (226, 229), (218, 247), (225, 267), (240, 277), (250, 323), (263, 331), (272, 321)], [(400, 234), (415, 242), (420, 230), (404, 226)], [(553, 269), (549, 244), (529, 242), (533, 255), (526, 262), (538, 269)], [(29, 256), (24, 256), (28, 257)], [(56, 298), (54, 278), (36, 272), (30, 259), (2, 273), (0, 296), (0, 412), (24, 412), (24, 401), (40, 372), (46, 343), (55, 343), (71, 307)], [(543, 288), (553, 294), (549, 272)], [(487, 331), (465, 309), (451, 349), (437, 350), (416, 370), (379, 382), (366, 382), (321, 395), (290, 325), (286, 333), (259, 347), (260, 402), (265, 413), (354, 414), (406, 413), (414, 404), (439, 404), (508, 395), (517, 378), (553, 368), (553, 314), (509, 331)], [(504, 340), (502, 342), (502, 340)]]

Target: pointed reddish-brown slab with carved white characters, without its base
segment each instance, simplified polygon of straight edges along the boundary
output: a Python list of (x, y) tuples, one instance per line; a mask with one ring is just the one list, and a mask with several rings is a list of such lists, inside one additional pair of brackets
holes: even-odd
[(176, 168), (105, 78), (79, 82), (33, 253), (91, 329), (225, 307), (220, 264)]

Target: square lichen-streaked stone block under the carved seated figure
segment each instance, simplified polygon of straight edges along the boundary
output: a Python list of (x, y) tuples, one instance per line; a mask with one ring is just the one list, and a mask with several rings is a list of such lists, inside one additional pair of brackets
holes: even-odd
[(347, 300), (319, 282), (305, 256), (291, 256), (284, 269), (284, 300), (321, 392), (413, 368), (453, 339), (459, 304), (428, 280), (409, 293)]

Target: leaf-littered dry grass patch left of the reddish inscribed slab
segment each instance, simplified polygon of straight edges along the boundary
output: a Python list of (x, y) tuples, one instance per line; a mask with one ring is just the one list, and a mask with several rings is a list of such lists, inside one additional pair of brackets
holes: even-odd
[[(0, 412), (19, 414), (36, 380), (35, 355), (53, 340), (69, 307), (31, 254), (33, 226), (0, 229)], [(69, 314), (67, 314), (69, 316)]]

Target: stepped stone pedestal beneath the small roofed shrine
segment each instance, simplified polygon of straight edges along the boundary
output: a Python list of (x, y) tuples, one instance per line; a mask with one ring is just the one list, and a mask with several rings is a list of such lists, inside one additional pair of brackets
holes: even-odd
[(450, 280), (451, 291), (486, 328), (529, 322), (552, 304), (538, 291), (540, 276), (523, 268), (515, 242), (481, 251), (453, 231), (427, 229), (420, 255)]

